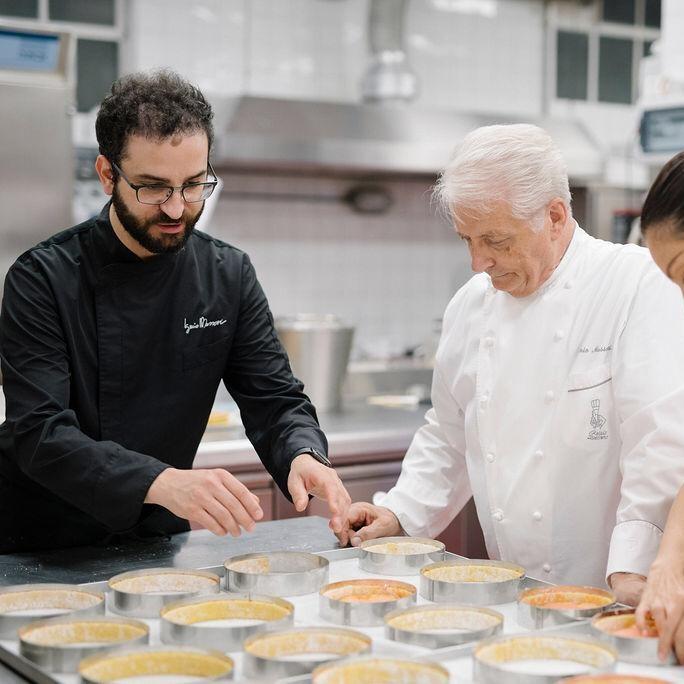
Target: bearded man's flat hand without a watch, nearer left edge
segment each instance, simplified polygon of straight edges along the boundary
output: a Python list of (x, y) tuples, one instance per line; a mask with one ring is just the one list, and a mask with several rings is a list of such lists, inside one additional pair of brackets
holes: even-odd
[(264, 517), (259, 498), (223, 468), (167, 468), (150, 485), (145, 503), (158, 504), (214, 534), (240, 536)]

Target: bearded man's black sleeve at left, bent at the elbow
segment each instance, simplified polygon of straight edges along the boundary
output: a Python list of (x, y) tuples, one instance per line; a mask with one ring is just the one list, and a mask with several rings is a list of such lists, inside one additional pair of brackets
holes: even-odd
[(112, 531), (134, 526), (168, 465), (84, 434), (69, 406), (71, 364), (55, 298), (30, 256), (10, 269), (0, 314), (0, 360), (21, 471)]

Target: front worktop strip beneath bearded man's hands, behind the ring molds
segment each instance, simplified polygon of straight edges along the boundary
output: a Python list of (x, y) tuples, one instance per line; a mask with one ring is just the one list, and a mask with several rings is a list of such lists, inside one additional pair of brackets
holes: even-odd
[(0, 586), (27, 582), (102, 582), (142, 568), (222, 568), (230, 556), (256, 551), (327, 551), (337, 548), (328, 521), (318, 516), (257, 523), (237, 539), (208, 530), (115, 546), (0, 555)]

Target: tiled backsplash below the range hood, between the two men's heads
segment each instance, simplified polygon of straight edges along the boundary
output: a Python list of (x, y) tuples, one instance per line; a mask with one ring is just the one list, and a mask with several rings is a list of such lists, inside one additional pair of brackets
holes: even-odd
[(364, 215), (335, 199), (352, 181), (219, 175), (224, 194), (207, 230), (250, 255), (275, 316), (335, 313), (353, 323), (354, 358), (425, 342), (471, 275), (467, 250), (438, 216), (427, 181), (382, 182), (392, 206)]

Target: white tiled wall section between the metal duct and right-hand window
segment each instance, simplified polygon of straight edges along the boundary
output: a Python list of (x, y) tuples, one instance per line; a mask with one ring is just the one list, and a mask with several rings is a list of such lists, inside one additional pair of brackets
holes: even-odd
[(543, 26), (538, 0), (413, 0), (406, 27), (421, 105), (538, 116)]

